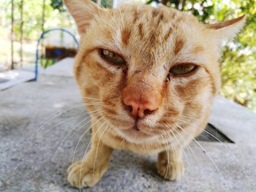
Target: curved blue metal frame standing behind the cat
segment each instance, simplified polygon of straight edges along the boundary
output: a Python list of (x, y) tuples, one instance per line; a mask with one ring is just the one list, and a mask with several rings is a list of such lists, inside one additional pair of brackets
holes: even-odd
[(39, 39), (37, 40), (37, 51), (36, 51), (36, 63), (35, 63), (35, 69), (34, 69), (34, 80), (37, 81), (38, 78), (38, 60), (39, 60), (39, 45), (41, 42), (41, 39), (45, 36), (45, 34), (48, 34), (50, 31), (64, 31), (67, 34), (69, 34), (75, 41), (75, 44), (78, 46), (79, 48), (79, 42), (78, 39), (75, 38), (75, 35), (72, 34), (71, 32), (67, 31), (64, 28), (52, 28), (52, 29), (48, 29), (46, 31), (43, 31), (42, 34), (40, 35)]

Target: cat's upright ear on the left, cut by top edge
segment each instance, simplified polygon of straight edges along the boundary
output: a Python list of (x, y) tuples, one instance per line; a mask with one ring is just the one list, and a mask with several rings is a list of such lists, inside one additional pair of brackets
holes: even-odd
[(102, 9), (91, 0), (64, 0), (64, 4), (78, 26), (80, 35), (86, 32), (91, 20), (100, 14)]

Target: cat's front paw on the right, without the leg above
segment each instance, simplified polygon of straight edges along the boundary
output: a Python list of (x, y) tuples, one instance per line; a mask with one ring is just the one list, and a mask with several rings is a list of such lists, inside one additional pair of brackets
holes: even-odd
[(184, 174), (184, 164), (180, 161), (159, 160), (157, 172), (167, 180), (180, 180)]

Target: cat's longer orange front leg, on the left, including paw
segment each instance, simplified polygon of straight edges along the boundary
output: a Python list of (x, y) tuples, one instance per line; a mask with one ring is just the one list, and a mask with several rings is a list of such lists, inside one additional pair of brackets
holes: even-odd
[(81, 161), (67, 169), (67, 180), (76, 188), (95, 185), (108, 170), (108, 163), (113, 149), (104, 145), (97, 136), (92, 138), (91, 150)]

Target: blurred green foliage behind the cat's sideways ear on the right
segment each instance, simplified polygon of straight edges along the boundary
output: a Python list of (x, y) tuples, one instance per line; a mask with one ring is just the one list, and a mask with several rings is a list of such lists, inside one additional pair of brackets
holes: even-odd
[(246, 26), (223, 47), (220, 94), (256, 112), (256, 1), (255, 0), (149, 0), (195, 15), (213, 23), (246, 15)]

